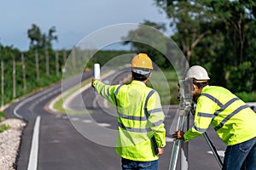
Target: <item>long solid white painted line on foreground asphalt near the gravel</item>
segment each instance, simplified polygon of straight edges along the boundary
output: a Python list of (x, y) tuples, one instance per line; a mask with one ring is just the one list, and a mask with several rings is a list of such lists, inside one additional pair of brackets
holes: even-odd
[(37, 116), (34, 132), (32, 136), (32, 147), (30, 150), (29, 162), (27, 170), (36, 170), (38, 168), (38, 143), (39, 143), (39, 127), (41, 117)]

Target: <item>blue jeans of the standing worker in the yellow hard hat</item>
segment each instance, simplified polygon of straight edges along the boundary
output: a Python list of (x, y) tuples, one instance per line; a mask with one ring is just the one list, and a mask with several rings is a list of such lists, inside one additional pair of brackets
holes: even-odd
[(158, 160), (155, 161), (132, 161), (122, 158), (123, 170), (157, 170)]

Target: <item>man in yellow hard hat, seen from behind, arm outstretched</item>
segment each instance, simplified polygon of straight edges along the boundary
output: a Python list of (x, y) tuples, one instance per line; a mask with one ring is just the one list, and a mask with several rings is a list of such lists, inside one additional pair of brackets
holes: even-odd
[(132, 81), (128, 85), (106, 85), (92, 79), (92, 87), (116, 105), (118, 136), (116, 152), (122, 169), (158, 169), (159, 155), (166, 145), (165, 115), (159, 94), (146, 86), (153, 65), (147, 54), (131, 60)]

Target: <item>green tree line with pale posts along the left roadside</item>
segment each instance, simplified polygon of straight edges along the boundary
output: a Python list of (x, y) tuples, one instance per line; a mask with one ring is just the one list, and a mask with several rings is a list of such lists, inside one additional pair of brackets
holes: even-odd
[[(1, 105), (3, 106), (20, 96), (29, 94), (40, 88), (61, 81), (65, 64), (69, 55), (84, 57), (83, 51), (73, 49), (54, 50), (52, 43), (58, 40), (55, 26), (49, 28), (47, 33), (32, 24), (27, 30), (30, 39), (29, 50), (20, 51), (13, 46), (3, 46), (0, 42), (0, 74), (1, 74)], [(73, 53), (72, 53), (73, 51)], [(93, 64), (99, 62), (104, 65), (109, 59), (118, 55), (130, 53), (128, 51), (97, 51), (89, 62), (84, 65), (79, 57), (73, 61), (72, 70), (81, 66), (91, 69)], [(88, 56), (86, 56), (89, 58)], [(76, 72), (76, 71), (75, 71)]]

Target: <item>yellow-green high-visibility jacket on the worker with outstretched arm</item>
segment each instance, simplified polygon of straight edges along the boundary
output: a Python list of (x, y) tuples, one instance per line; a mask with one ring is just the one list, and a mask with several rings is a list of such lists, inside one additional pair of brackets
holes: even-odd
[(118, 135), (116, 152), (133, 161), (154, 161), (151, 138), (158, 147), (166, 145), (165, 115), (159, 94), (143, 82), (132, 81), (128, 85), (105, 85), (93, 82), (98, 94), (116, 105), (118, 112)]

